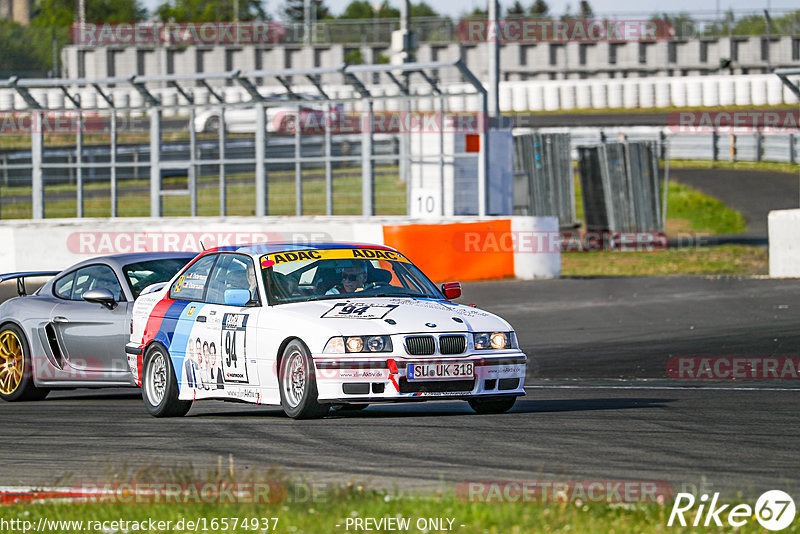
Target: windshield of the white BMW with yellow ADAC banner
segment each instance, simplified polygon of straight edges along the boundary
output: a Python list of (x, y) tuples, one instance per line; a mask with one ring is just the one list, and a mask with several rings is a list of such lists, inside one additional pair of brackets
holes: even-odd
[(441, 299), (436, 286), (399, 252), (341, 248), (261, 257), (264, 286), (277, 304), (342, 297)]

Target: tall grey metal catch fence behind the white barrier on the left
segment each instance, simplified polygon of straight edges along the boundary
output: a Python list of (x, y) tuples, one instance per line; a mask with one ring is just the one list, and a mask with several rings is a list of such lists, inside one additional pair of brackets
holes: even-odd
[[(265, 95), (259, 87), (269, 82), (272, 86), (280, 83), (285, 93)], [(0, 215), (406, 213), (405, 184), (415, 164), (408, 148), (414, 133), (409, 125), (415, 114), (438, 114), (438, 124), (446, 122), (442, 119), (446, 99), (437, 95), (443, 95), (440, 86), (447, 83), (460, 84), (460, 96), (478, 104), (473, 113), (486, 116), (485, 90), (461, 61), (0, 81), (0, 87), (14, 89), (28, 104), (24, 112), (4, 115), (0, 110), (0, 119), (28, 121), (16, 134), (0, 128), (4, 148), (0, 150)], [(249, 100), (228, 102), (225, 92), (211, 84), (235, 84)], [(373, 84), (393, 84), (397, 90), (394, 94), (374, 91)], [(342, 85), (349, 86), (348, 96), (326, 91)], [(131, 99), (116, 102), (114, 90), (122, 86), (135, 88), (142, 104), (135, 105)], [(164, 87), (177, 90), (180, 100), (160, 100), (158, 89)], [(37, 100), (37, 91), (52, 88), (63, 91), (63, 104), (48, 106)], [(80, 98), (87, 88), (96, 93), (96, 102), (87, 104), (88, 99)], [(215, 101), (198, 104), (196, 88), (207, 91)], [(353, 90), (356, 95), (349, 96)], [(448, 92), (447, 97), (452, 96)], [(435, 104), (420, 106), (421, 100)], [(390, 102), (386, 107), (395, 110), (399, 128), (384, 133), (376, 126), (380, 123), (374, 110), (377, 101)], [(354, 129), (341, 127), (345, 106), (357, 126)], [(165, 132), (163, 117), (168, 111), (170, 115), (188, 112), (188, 117), (167, 119), (172, 123)], [(143, 113), (141, 131), (127, 128), (132, 124), (130, 117)], [(216, 118), (213, 133), (198, 131), (203, 129), (197, 120), (203, 113)], [(66, 127), (48, 130), (65, 117)], [(289, 126), (294, 125), (289, 133), (276, 126), (287, 117)], [(95, 121), (89, 131), (88, 120)], [(315, 127), (306, 128), (306, 120)], [(69, 121), (80, 126), (73, 129)], [(238, 129), (235, 121), (240, 123)], [(444, 129), (438, 133), (443, 136)], [(475, 133), (481, 137), (478, 212), (485, 214), (486, 132), (479, 128)], [(451, 151), (437, 157), (462, 156)]]

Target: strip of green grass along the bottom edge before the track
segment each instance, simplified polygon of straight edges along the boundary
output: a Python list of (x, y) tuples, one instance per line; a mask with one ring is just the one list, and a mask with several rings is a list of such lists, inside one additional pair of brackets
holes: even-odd
[[(342, 493), (326, 502), (286, 502), (277, 505), (258, 504), (67, 504), (47, 503), (14, 505), (2, 509), (2, 517), (23, 519), (37, 524), (44, 517), (49, 520), (83, 521), (171, 521), (173, 528), (141, 532), (191, 532), (185, 521), (205, 518), (207, 527), (211, 521), (230, 518), (228, 528), (217, 528), (211, 532), (290, 532), (293, 534), (323, 534), (328, 532), (392, 532), (391, 530), (355, 529), (347, 520), (354, 518), (409, 518), (411, 528), (399, 532), (437, 532), (420, 530), (416, 522), (420, 518), (446, 518), (452, 520), (452, 532), (473, 534), (522, 534), (529, 532), (576, 532), (576, 533), (641, 533), (641, 532), (706, 532), (704, 528), (668, 527), (670, 503), (613, 505), (584, 503), (470, 503), (452, 495), (417, 495), (394, 497), (390, 493), (358, 492), (355, 489)], [(233, 518), (270, 518), (269, 529), (243, 529), (241, 524), (233, 530)], [(274, 519), (277, 518), (277, 526)], [(688, 517), (687, 517), (688, 518)], [(722, 519), (725, 517), (723, 515)], [(184, 521), (184, 528), (176, 530), (174, 525)], [(221, 526), (221, 522), (218, 523)], [(463, 526), (461, 526), (463, 525)], [(128, 525), (130, 527), (130, 524)], [(163, 526), (166, 526), (163, 525)], [(755, 519), (738, 532), (761, 532)], [(202, 527), (198, 529), (202, 531)], [(711, 531), (720, 531), (712, 529)], [(102, 531), (98, 529), (97, 531)], [(113, 529), (106, 530), (111, 532)], [(133, 531), (133, 530), (129, 530)], [(78, 532), (69, 528), (51, 528), (51, 533)], [(397, 531), (395, 531), (397, 532)], [(798, 532), (794, 525), (782, 532)]]

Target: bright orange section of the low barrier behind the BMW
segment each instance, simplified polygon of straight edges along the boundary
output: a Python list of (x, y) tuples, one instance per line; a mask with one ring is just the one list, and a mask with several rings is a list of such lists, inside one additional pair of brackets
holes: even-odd
[(475, 235), (482, 236), (482, 242), (490, 236), (489, 242), (499, 243), (511, 235), (511, 220), (383, 227), (384, 244), (408, 256), (435, 282), (513, 277), (513, 249), (465, 246), (465, 238)]

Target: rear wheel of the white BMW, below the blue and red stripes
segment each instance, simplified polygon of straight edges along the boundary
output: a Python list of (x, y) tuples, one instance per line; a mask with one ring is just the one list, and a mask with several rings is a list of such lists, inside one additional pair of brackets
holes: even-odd
[(142, 399), (153, 417), (182, 417), (192, 401), (178, 400), (178, 380), (172, 359), (160, 344), (153, 344), (144, 355), (142, 366)]

